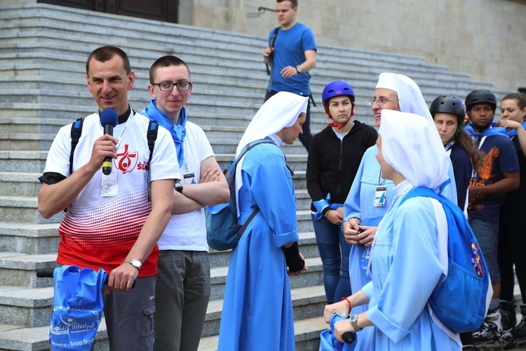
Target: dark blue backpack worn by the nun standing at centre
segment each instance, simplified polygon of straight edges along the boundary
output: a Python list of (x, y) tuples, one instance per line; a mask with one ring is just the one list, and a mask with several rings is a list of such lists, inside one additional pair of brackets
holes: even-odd
[(252, 211), (250, 217), (243, 225), (238, 225), (238, 213), (236, 206), (236, 166), (238, 162), (245, 156), (248, 150), (259, 144), (274, 144), (271, 140), (257, 140), (248, 144), (242, 154), (239, 155), (231, 164), (223, 171), (224, 177), (227, 178), (227, 183), (230, 190), (230, 200), (228, 204), (220, 204), (217, 206), (208, 206), (205, 209), (206, 218), (206, 240), (208, 246), (217, 251), (225, 251), (234, 249), (238, 244), (239, 238), (248, 227), (250, 221), (259, 212), (259, 207), (256, 206)]

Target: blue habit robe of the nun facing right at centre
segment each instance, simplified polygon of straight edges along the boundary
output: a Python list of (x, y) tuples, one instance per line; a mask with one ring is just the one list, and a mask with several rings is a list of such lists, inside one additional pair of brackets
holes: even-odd
[(232, 251), (218, 350), (295, 350), (292, 299), (281, 246), (299, 241), (294, 185), (276, 145), (250, 150), (241, 167), (238, 206), (243, 224), (259, 206)]

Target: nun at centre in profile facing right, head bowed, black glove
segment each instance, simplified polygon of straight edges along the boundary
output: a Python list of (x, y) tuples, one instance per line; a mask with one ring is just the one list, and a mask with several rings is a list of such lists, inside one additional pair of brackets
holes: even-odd
[(280, 92), (259, 109), (236, 151), (267, 139), (245, 154), (236, 168), (238, 223), (250, 222), (232, 251), (221, 317), (218, 350), (295, 350), (288, 274), (307, 269), (297, 249), (294, 185), (283, 143), (294, 143), (308, 98)]

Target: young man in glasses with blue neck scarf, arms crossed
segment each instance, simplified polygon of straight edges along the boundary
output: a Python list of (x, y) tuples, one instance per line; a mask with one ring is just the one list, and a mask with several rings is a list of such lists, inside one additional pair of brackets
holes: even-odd
[(142, 114), (170, 131), (182, 172), (175, 183), (170, 223), (159, 239), (154, 350), (197, 350), (210, 298), (205, 206), (229, 201), (227, 180), (205, 132), (187, 121), (193, 84), (187, 64), (163, 56), (149, 72), (154, 99)]

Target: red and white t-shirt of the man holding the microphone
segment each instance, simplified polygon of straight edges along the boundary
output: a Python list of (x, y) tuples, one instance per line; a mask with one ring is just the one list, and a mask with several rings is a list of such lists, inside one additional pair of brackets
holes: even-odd
[[(126, 259), (151, 211), (147, 184), (148, 124), (147, 117), (133, 114), (126, 123), (114, 128), (113, 135), (119, 139), (118, 158), (112, 164), (112, 175), (116, 175), (116, 196), (101, 196), (102, 170), (95, 173), (67, 208), (60, 224), (58, 263), (94, 270), (102, 268), (109, 273)], [(50, 147), (44, 173), (69, 176), (70, 133), (71, 125), (60, 128)], [(88, 163), (93, 143), (102, 134), (98, 114), (84, 119), (82, 135), (74, 153), (73, 171)], [(151, 159), (150, 181), (180, 178), (173, 140), (168, 131), (159, 128)], [(157, 259), (156, 246), (144, 261), (139, 276), (156, 274)]]

